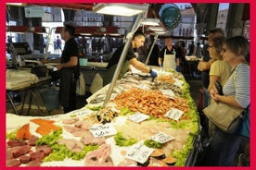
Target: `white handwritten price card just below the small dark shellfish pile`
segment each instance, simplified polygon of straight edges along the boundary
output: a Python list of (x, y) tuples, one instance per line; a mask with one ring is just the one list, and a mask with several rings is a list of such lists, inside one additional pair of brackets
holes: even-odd
[(113, 127), (112, 124), (96, 124), (90, 128), (90, 131), (94, 137), (106, 137), (117, 134), (117, 130)]

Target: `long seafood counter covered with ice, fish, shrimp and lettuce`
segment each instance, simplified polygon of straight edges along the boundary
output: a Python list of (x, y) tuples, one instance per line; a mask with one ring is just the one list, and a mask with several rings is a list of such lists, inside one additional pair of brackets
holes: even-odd
[[(158, 79), (127, 73), (118, 80), (105, 108), (101, 106), (109, 85), (88, 98), (82, 109), (66, 115), (6, 114), (7, 152), (20, 133), (29, 132), (21, 137), (37, 140), (23, 154), (33, 157), (39, 154), (39, 145), (48, 147), (38, 166), (193, 165), (199, 121), (189, 85), (180, 73), (156, 71)], [(12, 153), (6, 164), (13, 166), (12, 161), (23, 154)]]

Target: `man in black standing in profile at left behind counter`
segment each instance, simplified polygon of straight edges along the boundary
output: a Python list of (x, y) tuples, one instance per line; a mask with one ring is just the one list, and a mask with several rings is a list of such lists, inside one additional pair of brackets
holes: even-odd
[(78, 62), (78, 44), (75, 42), (73, 35), (75, 29), (70, 25), (65, 25), (61, 30), (61, 39), (65, 41), (62, 55), (54, 60), (41, 60), (42, 63), (60, 62), (57, 69), (60, 73), (59, 84), (59, 100), (64, 108), (64, 113), (68, 113), (76, 109), (75, 90), (76, 80), (79, 78), (79, 62)]

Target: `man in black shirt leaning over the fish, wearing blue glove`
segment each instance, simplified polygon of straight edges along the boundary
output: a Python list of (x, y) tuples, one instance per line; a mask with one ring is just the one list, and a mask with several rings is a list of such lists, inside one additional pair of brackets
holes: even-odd
[[(136, 31), (134, 33), (133, 40), (131, 42), (131, 45), (128, 49), (127, 55), (125, 57), (125, 62), (122, 65), (122, 70), (119, 75), (119, 79), (122, 78), (122, 76), (129, 70), (129, 65), (132, 65), (136, 69), (145, 72), (145, 73), (150, 73), (151, 77), (155, 78), (157, 77), (157, 73), (152, 71), (150, 67), (147, 67), (145, 64), (141, 63), (140, 61), (137, 60), (136, 55), (134, 55), (134, 49), (140, 48), (143, 46), (145, 42), (145, 35), (141, 31)], [(122, 44), (118, 49), (115, 51), (115, 53), (112, 55), (108, 69), (115, 68), (117, 67), (117, 64), (120, 60), (120, 57), (122, 55), (122, 50), (124, 48), (124, 44)], [(113, 75), (108, 75), (109, 77), (112, 77)], [(104, 83), (106, 84), (106, 82)]]

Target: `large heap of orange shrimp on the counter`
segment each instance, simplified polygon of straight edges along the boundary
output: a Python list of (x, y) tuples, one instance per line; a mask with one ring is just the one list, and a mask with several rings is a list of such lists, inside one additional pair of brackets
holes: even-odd
[(146, 115), (163, 118), (168, 110), (177, 108), (185, 113), (188, 111), (186, 99), (175, 97), (170, 99), (161, 91), (131, 89), (118, 94), (113, 102), (118, 108), (128, 107), (133, 112), (140, 112)]

